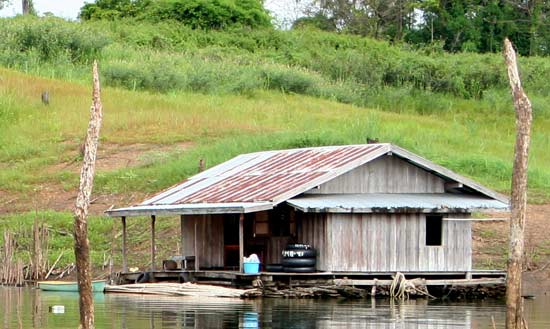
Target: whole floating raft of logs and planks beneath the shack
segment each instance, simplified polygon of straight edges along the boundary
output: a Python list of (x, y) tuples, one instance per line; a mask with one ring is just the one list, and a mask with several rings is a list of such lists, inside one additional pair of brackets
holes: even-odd
[[(506, 273), (503, 271), (403, 274), (408, 281), (436, 297), (485, 298), (501, 297), (505, 293)], [(120, 282), (125, 284), (108, 286), (106, 292), (240, 298), (383, 297), (390, 295), (389, 287), (396, 272), (153, 271), (147, 272), (147, 276), (154, 283), (133, 284), (142, 275), (143, 272), (120, 273)], [(174, 281), (185, 283), (167, 283)]]

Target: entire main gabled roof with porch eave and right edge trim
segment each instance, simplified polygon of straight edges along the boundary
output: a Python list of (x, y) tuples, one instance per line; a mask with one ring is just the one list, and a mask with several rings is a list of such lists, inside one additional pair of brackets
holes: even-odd
[(506, 197), (398, 146), (364, 144), (242, 154), (190, 177), (138, 206), (106, 213), (110, 216), (140, 216), (161, 211), (207, 214), (252, 209), (227, 204), (262, 204), (262, 207), (271, 208), (390, 153), (449, 181), (464, 184), (484, 196), (508, 202)]

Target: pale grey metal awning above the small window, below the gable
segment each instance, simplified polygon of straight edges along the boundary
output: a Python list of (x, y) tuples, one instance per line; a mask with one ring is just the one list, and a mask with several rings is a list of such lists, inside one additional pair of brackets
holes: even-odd
[(334, 213), (508, 210), (508, 204), (498, 200), (451, 193), (305, 195), (287, 200), (287, 203), (303, 212)]

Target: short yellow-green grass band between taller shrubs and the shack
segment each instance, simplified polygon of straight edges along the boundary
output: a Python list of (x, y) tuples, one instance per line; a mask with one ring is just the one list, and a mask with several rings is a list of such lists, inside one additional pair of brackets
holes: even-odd
[[(82, 141), (88, 121), (88, 88), (5, 69), (0, 69), (0, 76), (0, 102), (5, 105), (0, 185), (4, 190), (20, 192), (32, 191), (46, 182), (62, 184), (65, 189), (76, 187), (75, 172), (52, 170), (52, 166), (75, 160), (73, 151)], [(51, 90), (47, 107), (40, 103), (42, 88)], [(399, 91), (385, 92), (391, 97)], [(431, 95), (417, 92), (414, 97), (403, 98), (410, 99), (412, 106), (420, 106), (417, 103), (427, 102)], [(367, 137), (398, 144), (501, 192), (507, 193), (510, 187), (513, 109), (511, 104), (489, 97), (464, 100), (447, 96), (447, 111), (424, 114), (266, 91), (239, 96), (104, 88), (102, 99), (102, 143), (188, 141), (193, 147), (142, 167), (99, 171), (96, 191), (100, 192), (157, 191), (194, 174), (200, 158), (212, 166), (244, 152), (365, 143)], [(530, 194), (535, 201), (547, 200), (550, 193), (549, 132), (550, 119), (541, 112), (534, 122), (529, 172)]]

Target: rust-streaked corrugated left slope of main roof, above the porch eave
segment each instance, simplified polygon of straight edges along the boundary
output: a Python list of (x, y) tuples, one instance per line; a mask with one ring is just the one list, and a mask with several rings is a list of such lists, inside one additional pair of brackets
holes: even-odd
[[(280, 202), (390, 150), (389, 144), (327, 146), (243, 154), (141, 205)], [(292, 194), (292, 191), (297, 191)]]

